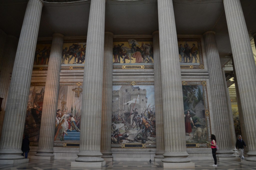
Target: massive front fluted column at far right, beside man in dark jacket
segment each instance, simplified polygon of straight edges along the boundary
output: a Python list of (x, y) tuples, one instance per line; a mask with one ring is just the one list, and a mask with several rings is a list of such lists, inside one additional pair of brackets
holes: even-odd
[[(256, 165), (256, 66), (250, 39), (239, 0), (224, 0), (229, 38), (232, 48), (237, 85), (241, 100), (244, 131), (247, 133), (248, 156), (246, 162)], [(243, 162), (243, 161), (242, 161)]]

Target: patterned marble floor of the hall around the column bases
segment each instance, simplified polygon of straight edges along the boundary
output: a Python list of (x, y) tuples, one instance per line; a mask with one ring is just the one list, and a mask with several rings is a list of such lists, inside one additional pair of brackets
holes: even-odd
[[(71, 168), (71, 162), (73, 160), (29, 160), (26, 164), (15, 165), (1, 165), (0, 169), (27, 169), (27, 170), (164, 170), (157, 162), (132, 162), (132, 161), (113, 161), (106, 162), (106, 165), (102, 168)], [(218, 161), (218, 167), (212, 167), (213, 160), (193, 160), (196, 170), (256, 170), (256, 167), (241, 165), (239, 161)], [(168, 170), (169, 168), (165, 168)], [(189, 168), (191, 169), (191, 168)]]

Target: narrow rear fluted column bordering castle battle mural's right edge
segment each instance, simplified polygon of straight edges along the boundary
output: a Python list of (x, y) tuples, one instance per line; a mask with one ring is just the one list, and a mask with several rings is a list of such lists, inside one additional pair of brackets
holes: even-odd
[(164, 124), (163, 124), (163, 99), (161, 85), (161, 62), (159, 31), (153, 32), (154, 47), (154, 85), (155, 85), (155, 110), (156, 110), (156, 155), (155, 161), (160, 162), (164, 156)]

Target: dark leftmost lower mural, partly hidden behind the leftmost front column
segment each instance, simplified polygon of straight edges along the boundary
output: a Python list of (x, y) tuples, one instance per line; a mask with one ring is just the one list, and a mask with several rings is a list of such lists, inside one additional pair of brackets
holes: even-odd
[(37, 145), (41, 126), (45, 86), (31, 86), (29, 89), (24, 134), (29, 136), (31, 145)]

